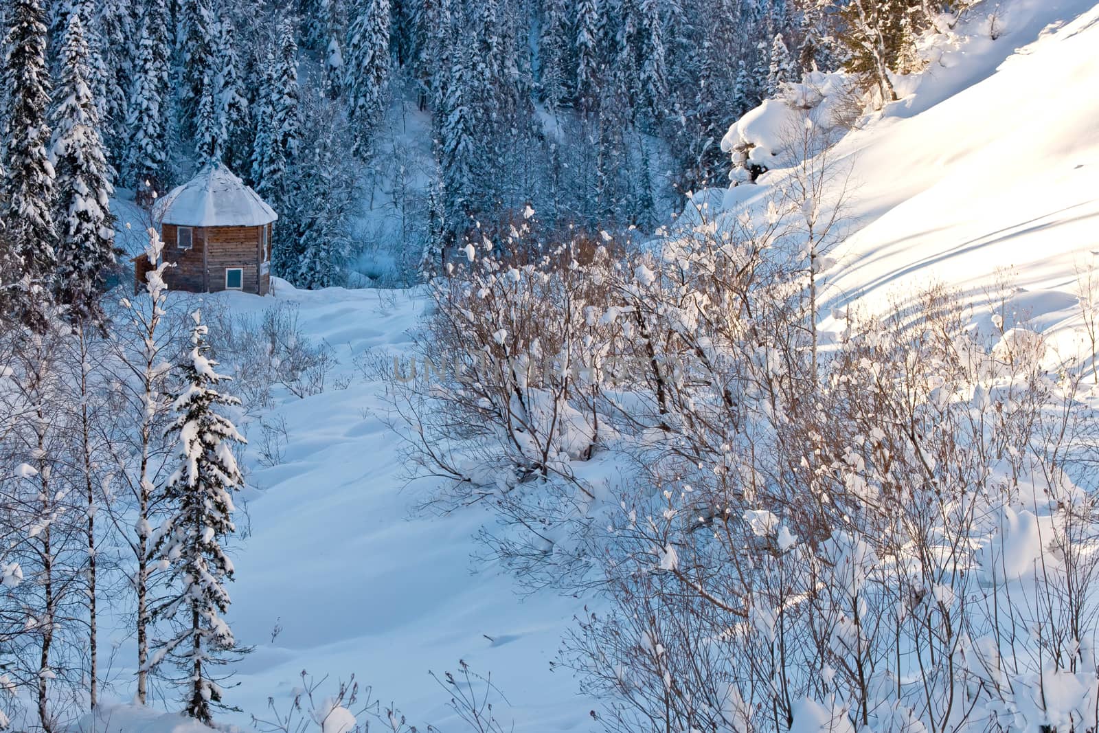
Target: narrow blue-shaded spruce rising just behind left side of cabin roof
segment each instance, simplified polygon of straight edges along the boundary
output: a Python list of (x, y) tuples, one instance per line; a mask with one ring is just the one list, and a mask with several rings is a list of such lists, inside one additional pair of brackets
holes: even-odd
[(130, 93), (130, 145), (125, 180), (137, 191), (137, 202), (151, 201), (153, 191), (163, 191), (167, 181), (167, 135), (164, 126), (167, 91), (167, 59), (158, 54), (149, 34), (148, 19), (142, 23), (137, 43), (137, 66)]

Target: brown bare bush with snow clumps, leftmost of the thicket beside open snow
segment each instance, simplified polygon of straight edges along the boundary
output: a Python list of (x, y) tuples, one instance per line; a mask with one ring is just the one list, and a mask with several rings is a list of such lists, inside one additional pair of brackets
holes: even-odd
[(595, 499), (575, 465), (613, 440), (604, 386), (628, 319), (608, 307), (618, 300), (604, 248), (587, 265), (571, 246), (511, 264), (533, 252), (519, 226), (504, 242), (467, 242), (465, 264), (431, 284), (414, 360), (393, 365), (390, 397), (411, 429), (413, 473), (448, 479), (440, 506), (491, 498), (523, 527), (493, 551), (530, 568), (565, 546), (562, 527), (582, 523)]

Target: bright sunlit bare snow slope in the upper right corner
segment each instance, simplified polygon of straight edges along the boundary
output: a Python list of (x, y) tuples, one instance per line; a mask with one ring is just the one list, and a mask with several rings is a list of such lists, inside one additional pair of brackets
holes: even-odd
[[(986, 3), (987, 4), (987, 3)], [(932, 281), (975, 301), (997, 268), (1020, 287), (1072, 292), (1099, 245), (1099, 5), (988, 8), (915, 79), (914, 93), (850, 134), (856, 232), (835, 252), (833, 304), (884, 307)], [(985, 15), (985, 16), (983, 16)], [(1025, 298), (1032, 315), (1069, 304)]]

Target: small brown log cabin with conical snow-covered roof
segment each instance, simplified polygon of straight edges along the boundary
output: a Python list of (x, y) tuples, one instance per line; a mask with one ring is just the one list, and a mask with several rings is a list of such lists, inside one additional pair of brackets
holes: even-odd
[[(222, 163), (202, 168), (154, 207), (160, 222), (165, 270), (171, 290), (241, 290), (260, 296), (270, 289), (271, 225), (278, 214)], [(134, 258), (134, 289), (149, 269)]]

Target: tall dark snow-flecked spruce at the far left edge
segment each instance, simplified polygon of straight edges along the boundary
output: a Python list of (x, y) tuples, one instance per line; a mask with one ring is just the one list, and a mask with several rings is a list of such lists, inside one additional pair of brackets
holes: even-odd
[(49, 75), (46, 70), (46, 23), (40, 0), (15, 0), (8, 9), (3, 41), (3, 180), (0, 223), (5, 246), (0, 253), (0, 299), (8, 312), (25, 322), (43, 321), (41, 301), (56, 264), (53, 223), (54, 167), (46, 146)]

